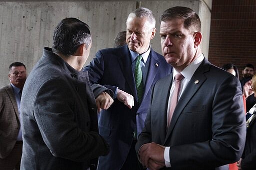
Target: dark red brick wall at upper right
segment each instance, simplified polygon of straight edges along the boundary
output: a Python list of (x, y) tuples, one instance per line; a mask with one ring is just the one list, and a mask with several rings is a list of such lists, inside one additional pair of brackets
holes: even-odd
[(256, 68), (256, 0), (212, 0), (208, 60)]

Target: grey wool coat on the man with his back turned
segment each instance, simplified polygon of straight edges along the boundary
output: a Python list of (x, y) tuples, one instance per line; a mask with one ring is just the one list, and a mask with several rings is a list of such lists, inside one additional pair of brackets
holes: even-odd
[(21, 170), (86, 170), (90, 159), (108, 153), (87, 72), (76, 71), (50, 48), (26, 79), (20, 109)]

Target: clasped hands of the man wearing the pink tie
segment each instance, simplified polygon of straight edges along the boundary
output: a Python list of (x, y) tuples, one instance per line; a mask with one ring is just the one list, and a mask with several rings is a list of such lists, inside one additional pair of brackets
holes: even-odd
[(139, 149), (139, 160), (150, 170), (159, 170), (165, 167), (164, 147), (155, 143), (144, 144)]

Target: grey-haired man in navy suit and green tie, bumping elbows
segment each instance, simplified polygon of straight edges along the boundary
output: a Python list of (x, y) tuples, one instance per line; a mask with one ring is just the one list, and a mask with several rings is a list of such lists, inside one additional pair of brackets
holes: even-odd
[[(99, 134), (110, 148), (107, 156), (99, 158), (98, 170), (140, 169), (135, 153), (134, 132), (139, 134), (144, 126), (151, 86), (171, 72), (171, 66), (163, 56), (149, 45), (155, 31), (151, 10), (137, 8), (126, 20), (127, 45), (99, 50), (90, 65), (84, 68), (92, 84), (105, 85), (116, 95), (111, 107), (102, 110), (99, 115)], [(142, 101), (137, 99), (133, 71), (139, 54), (143, 57), (140, 62)]]

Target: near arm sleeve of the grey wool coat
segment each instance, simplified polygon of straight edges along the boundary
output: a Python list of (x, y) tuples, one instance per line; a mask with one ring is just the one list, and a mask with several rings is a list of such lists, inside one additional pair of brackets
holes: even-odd
[(75, 103), (77, 95), (70, 89), (63, 79), (52, 78), (37, 92), (33, 116), (44, 143), (53, 156), (76, 162), (106, 155), (106, 142), (97, 132), (89, 131), (90, 110), (82, 101)]

